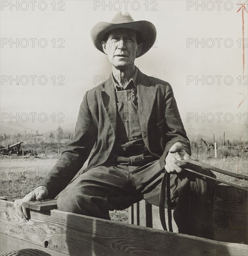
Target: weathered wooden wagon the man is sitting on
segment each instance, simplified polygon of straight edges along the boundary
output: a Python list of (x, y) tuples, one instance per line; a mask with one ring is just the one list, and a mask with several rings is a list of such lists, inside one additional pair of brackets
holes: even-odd
[(25, 248), (52, 256), (248, 255), (247, 192), (226, 185), (215, 189), (215, 241), (161, 230), (158, 207), (144, 200), (130, 207), (129, 224), (62, 212), (56, 200), (28, 202), (26, 208), (29, 221), (13, 202), (0, 200), (1, 255)]

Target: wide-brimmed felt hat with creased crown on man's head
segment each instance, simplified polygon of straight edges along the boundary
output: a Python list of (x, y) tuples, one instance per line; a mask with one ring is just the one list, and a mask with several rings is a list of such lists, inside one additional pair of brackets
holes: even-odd
[(124, 14), (118, 12), (110, 23), (98, 22), (91, 29), (91, 39), (93, 40), (95, 47), (102, 53), (104, 53), (102, 41), (104, 40), (106, 33), (114, 28), (129, 28), (139, 32), (141, 37), (140, 42), (143, 43), (143, 46), (137, 57), (142, 56), (150, 50), (155, 43), (157, 36), (156, 27), (151, 22), (146, 20), (134, 21), (128, 12), (125, 12)]

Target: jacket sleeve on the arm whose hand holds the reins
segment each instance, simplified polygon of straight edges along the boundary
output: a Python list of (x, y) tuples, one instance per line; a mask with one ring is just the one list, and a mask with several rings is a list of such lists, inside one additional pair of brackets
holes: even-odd
[(186, 135), (186, 131), (183, 127), (176, 100), (174, 98), (173, 90), (169, 83), (166, 85), (166, 94), (164, 101), (164, 124), (166, 132), (166, 144), (163, 155), (160, 158), (160, 165), (164, 167), (165, 158), (169, 153), (169, 149), (176, 143), (180, 142), (183, 145), (183, 149), (191, 155), (190, 142)]

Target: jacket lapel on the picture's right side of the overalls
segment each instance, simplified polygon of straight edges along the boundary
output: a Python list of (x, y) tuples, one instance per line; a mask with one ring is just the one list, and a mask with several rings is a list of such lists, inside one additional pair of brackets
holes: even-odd
[(143, 137), (148, 136), (148, 121), (157, 96), (157, 88), (151, 79), (138, 70), (137, 76), (138, 112)]

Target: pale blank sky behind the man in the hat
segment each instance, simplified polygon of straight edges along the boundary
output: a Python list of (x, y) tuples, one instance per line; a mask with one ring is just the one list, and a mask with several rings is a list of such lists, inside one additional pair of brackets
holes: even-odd
[[(59, 118), (74, 123), (85, 92), (111, 73), (107, 56), (93, 46), (91, 28), (110, 22), (119, 9), (157, 28), (155, 45), (135, 64), (170, 83), (183, 120), (201, 121), (204, 113), (203, 119), (219, 118), (227, 126), (247, 121), (248, 15), (244, 12), (243, 77), (240, 1), (205, 1), (203, 7), (202, 1), (186, 0), (37, 1), (34, 6), (19, 1), (18, 10), (15, 2), (1, 2), (1, 122), (16, 121), (15, 115), (30, 122), (30, 113), (37, 113), (40, 129), (58, 126)], [(14, 81), (17, 76), (22, 80)]]

